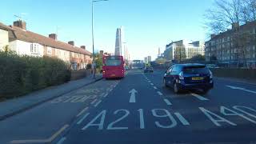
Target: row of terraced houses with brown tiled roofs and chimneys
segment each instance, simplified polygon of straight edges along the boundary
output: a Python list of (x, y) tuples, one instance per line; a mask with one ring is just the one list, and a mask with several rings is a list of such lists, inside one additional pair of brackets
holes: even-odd
[[(18, 20), (13, 26), (0, 23), (0, 29), (8, 30), (9, 48), (17, 54), (30, 56), (50, 56), (60, 58), (70, 64), (71, 69), (80, 70), (92, 62), (92, 54), (86, 46), (74, 46), (74, 41), (60, 42), (57, 34), (49, 37), (26, 30), (26, 22)], [(2, 34), (2, 33), (1, 33)]]

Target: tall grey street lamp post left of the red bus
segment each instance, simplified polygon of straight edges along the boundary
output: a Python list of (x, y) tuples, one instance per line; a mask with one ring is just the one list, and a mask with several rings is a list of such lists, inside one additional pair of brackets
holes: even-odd
[(95, 65), (95, 54), (94, 54), (94, 2), (102, 2), (109, 0), (92, 0), (91, 1), (91, 36), (93, 42), (93, 78), (95, 79), (96, 65)]

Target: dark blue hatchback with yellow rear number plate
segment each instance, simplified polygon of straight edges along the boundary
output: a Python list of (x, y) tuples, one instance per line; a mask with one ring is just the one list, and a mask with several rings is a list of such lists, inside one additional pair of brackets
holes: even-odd
[(207, 93), (214, 87), (213, 74), (202, 64), (176, 64), (170, 66), (163, 77), (164, 86), (170, 86), (174, 93), (181, 90), (202, 90)]

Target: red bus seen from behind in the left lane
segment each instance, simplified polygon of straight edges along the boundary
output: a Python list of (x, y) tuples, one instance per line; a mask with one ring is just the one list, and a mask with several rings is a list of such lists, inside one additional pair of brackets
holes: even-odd
[(103, 78), (124, 78), (124, 60), (122, 56), (103, 56)]

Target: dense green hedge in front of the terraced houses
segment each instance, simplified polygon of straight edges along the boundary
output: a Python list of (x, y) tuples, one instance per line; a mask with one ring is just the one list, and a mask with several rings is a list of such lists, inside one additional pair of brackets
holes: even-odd
[(13, 98), (70, 81), (70, 66), (58, 58), (0, 51), (0, 98)]

